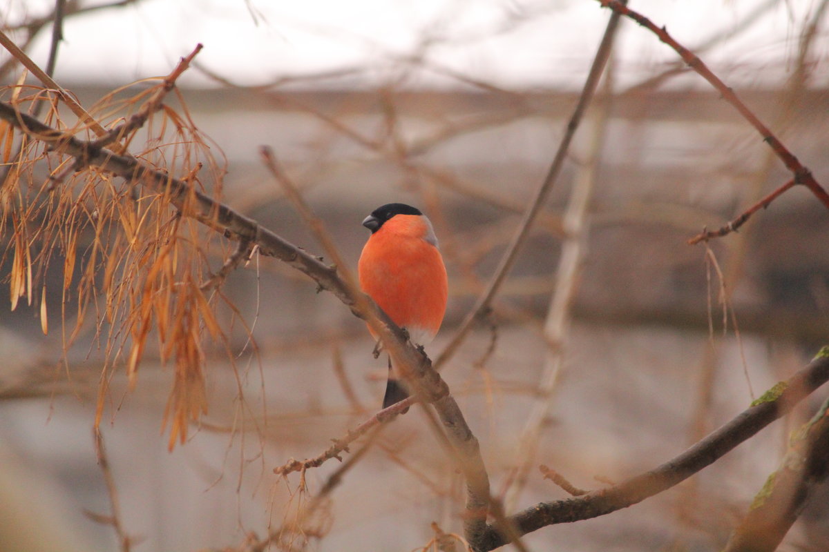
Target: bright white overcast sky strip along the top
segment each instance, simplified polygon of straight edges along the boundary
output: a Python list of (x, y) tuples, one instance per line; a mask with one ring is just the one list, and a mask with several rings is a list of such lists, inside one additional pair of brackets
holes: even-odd
[[(109, 0), (96, 0), (96, 2)], [(689, 47), (739, 31), (701, 56), (729, 84), (774, 84), (797, 53), (797, 36), (819, 0), (632, 0), (631, 7), (667, 26)], [(11, 21), (42, 14), (49, 0), (0, 0)], [(771, 5), (753, 24), (740, 24)], [(442, 69), (521, 87), (578, 86), (604, 30), (608, 10), (595, 0), (143, 0), (134, 6), (75, 17), (65, 24), (57, 78), (119, 85), (167, 73), (196, 43), (201, 64), (242, 84), (286, 74), (360, 66), (368, 82), (399, 74), (400, 56), (426, 51), (432, 70), (416, 84), (445, 84)], [(826, 84), (827, 29), (813, 52)], [(49, 31), (33, 57), (45, 63)], [(648, 31), (626, 22), (619, 73), (633, 83), (654, 64), (676, 60)], [(423, 48), (424, 42), (429, 46)], [(191, 82), (205, 82), (190, 72)], [(681, 79), (686, 85), (698, 81)], [(676, 84), (676, 83), (675, 83)]]

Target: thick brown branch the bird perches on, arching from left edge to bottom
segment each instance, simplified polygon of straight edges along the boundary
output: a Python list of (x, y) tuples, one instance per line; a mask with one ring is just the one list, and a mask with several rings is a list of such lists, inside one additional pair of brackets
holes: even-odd
[(490, 497), (489, 477), (483, 465), (478, 439), (469, 429), (458, 403), (449, 394), (446, 382), (434, 370), (429, 358), (407, 340), (403, 331), (373, 301), (366, 295), (352, 292), (350, 286), (337, 275), (336, 266), (325, 265), (318, 257), (259, 226), (252, 218), (235, 212), (184, 181), (155, 170), (133, 156), (119, 155), (95, 142), (81, 141), (59, 132), (20, 113), (8, 103), (0, 102), (0, 118), (11, 122), (30, 137), (46, 142), (53, 151), (75, 157), (85, 166), (99, 166), (130, 182), (164, 194), (181, 211), (182, 216), (196, 218), (217, 232), (224, 233), (227, 238), (255, 244), (263, 255), (276, 257), (311, 277), (318, 286), (331, 291), (349, 306), (356, 316), (371, 324), (371, 328), (381, 337), (395, 366), (413, 376), (418, 386), (417, 395), (434, 406), (444, 425), (446, 437), (458, 458), (458, 468), (467, 482), (467, 512), (464, 516), (466, 537), (473, 545), (477, 544), (486, 529)]

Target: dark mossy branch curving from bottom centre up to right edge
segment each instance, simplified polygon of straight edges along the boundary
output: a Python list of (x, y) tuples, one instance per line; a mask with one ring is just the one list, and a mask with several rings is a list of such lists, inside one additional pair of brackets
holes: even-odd
[[(778, 383), (748, 409), (676, 458), (647, 473), (613, 487), (589, 492), (583, 497), (541, 502), (511, 516), (510, 521), (521, 535), (526, 535), (541, 527), (604, 516), (642, 502), (714, 463), (774, 420), (788, 414), (798, 402), (827, 380), (829, 355), (821, 354), (787, 382)], [(507, 540), (497, 527), (487, 526), (476, 550), (493, 550), (506, 544)]]

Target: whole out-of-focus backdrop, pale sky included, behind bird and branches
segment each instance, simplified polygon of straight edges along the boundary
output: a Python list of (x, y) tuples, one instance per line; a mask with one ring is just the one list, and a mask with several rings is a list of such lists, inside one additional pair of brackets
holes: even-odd
[[(701, 55), (826, 185), (827, 3), (631, 7)], [(390, 201), (423, 209), (450, 280), (433, 358), (541, 185), (609, 16), (590, 0), (0, 0), (3, 31), (41, 67), (56, 6), (55, 78), (86, 108), (169, 73), (204, 44), (167, 102), (211, 138), (222, 169), (202, 176), (206, 188), (289, 241), (322, 253), (259, 161), (260, 145), (274, 148), (351, 269), (366, 214)], [(0, 64), (2, 84), (21, 78), (5, 51)], [(739, 233), (686, 244), (789, 178), (715, 90), (622, 22), (492, 314), (443, 370), (507, 511), (568, 497), (539, 464), (593, 489), (667, 461), (827, 343), (829, 218), (807, 190), (783, 194)], [(216, 271), (223, 258), (214, 251), (206, 262)], [(6, 278), (8, 262), (0, 270)], [(47, 298), (46, 336), (36, 306), (0, 309), (0, 549), (124, 550), (100, 517), (112, 515), (114, 495), (92, 434), (105, 346), (90, 319), (64, 351), (59, 290)], [(462, 479), (418, 408), (385, 427), (324, 500), (312, 497), (337, 461), (303, 481), (273, 475), (377, 410), (385, 358), (371, 357), (349, 310), (273, 259), (234, 271), (223, 293), (254, 342), (219, 310), (232, 362), (226, 350), (207, 358), (209, 410), (187, 444), (167, 452), (172, 369), (158, 352), (146, 353), (133, 390), (123, 366), (112, 372), (103, 434), (133, 550), (259, 550), (269, 533), (279, 537), (273, 550), (417, 550), (432, 521), (459, 532)], [(75, 310), (65, 307), (69, 327)], [(529, 550), (720, 550), (789, 430), (824, 396), (689, 482), (524, 541)], [(312, 518), (299, 521), (309, 505)], [(829, 550), (826, 505), (818, 489), (781, 550)]]

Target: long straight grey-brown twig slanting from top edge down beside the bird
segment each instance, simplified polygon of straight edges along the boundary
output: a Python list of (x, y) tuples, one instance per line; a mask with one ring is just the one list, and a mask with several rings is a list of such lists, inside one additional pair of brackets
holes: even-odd
[(492, 300), (495, 298), (495, 295), (501, 288), (504, 280), (507, 278), (507, 274), (511, 270), (512, 265), (518, 256), (518, 252), (521, 250), (521, 246), (524, 245), (526, 237), (530, 233), (532, 223), (536, 220), (536, 216), (541, 212), (541, 208), (547, 194), (550, 193), (555, 181), (558, 180), (561, 168), (564, 166), (567, 151), (570, 149), (570, 142), (572, 142), (575, 131), (579, 127), (582, 115), (584, 115), (584, 110), (593, 99), (596, 87), (599, 85), (599, 77), (601, 77), (602, 72), (604, 71), (604, 65), (607, 63), (608, 57), (610, 56), (610, 46), (613, 44), (613, 35), (615, 34), (616, 27), (618, 26), (618, 21), (619, 18), (613, 16), (611, 16), (608, 21), (608, 26), (605, 28), (604, 36), (599, 44), (599, 50), (596, 52), (593, 65), (590, 67), (590, 72), (587, 76), (587, 80), (584, 82), (584, 87), (579, 95), (579, 101), (576, 103), (573, 114), (570, 116), (570, 121), (567, 123), (564, 136), (561, 137), (561, 142), (558, 150), (555, 152), (555, 157), (550, 165), (550, 170), (547, 171), (547, 175), (541, 182), (539, 189), (536, 191), (535, 197), (532, 199), (530, 204), (527, 205), (524, 216), (521, 218), (521, 223), (519, 224), (509, 247), (507, 247), (507, 252), (504, 253), (501, 262), (498, 264), (495, 274), (492, 276), (492, 279), (487, 285), (487, 289), (484, 290), (478, 297), (478, 300), (475, 302), (472, 310), (470, 310), (466, 318), (463, 319), (463, 322), (455, 331), (452, 339), (444, 347), (444, 350), (441, 351), (438, 358), (434, 360), (435, 369), (439, 370), (440, 367), (448, 362), (448, 360), (453, 357), (454, 353), (457, 352), (461, 343), (463, 343), (463, 339), (465, 339), (469, 333), (469, 330), (472, 329), (473, 325), (478, 322), (479, 319), (487, 314), (490, 303), (492, 303)]

